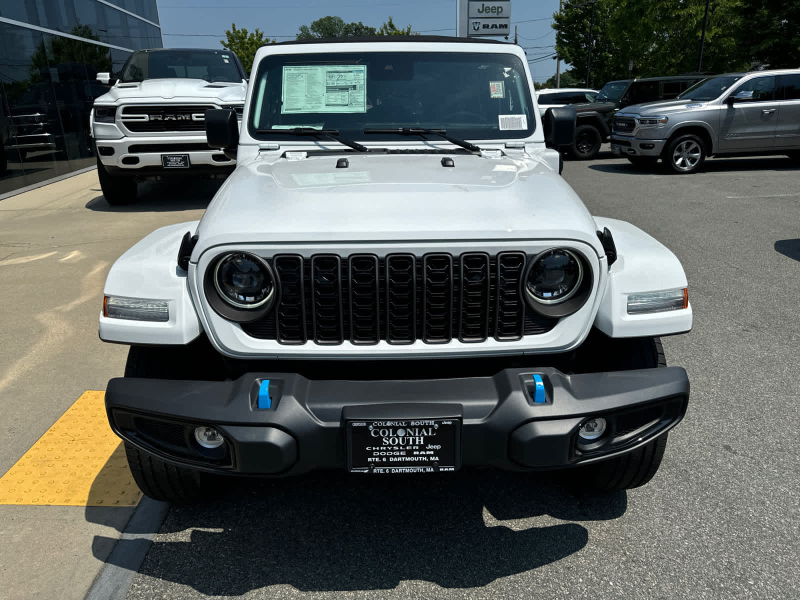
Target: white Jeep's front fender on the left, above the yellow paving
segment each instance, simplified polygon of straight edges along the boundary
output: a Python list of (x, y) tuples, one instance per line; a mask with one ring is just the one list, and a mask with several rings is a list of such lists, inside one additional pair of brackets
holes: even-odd
[(202, 332), (185, 270), (178, 267), (178, 248), (198, 221), (155, 230), (111, 266), (103, 294), (169, 302), (167, 322), (129, 321), (100, 314), (100, 339), (126, 344), (188, 344)]

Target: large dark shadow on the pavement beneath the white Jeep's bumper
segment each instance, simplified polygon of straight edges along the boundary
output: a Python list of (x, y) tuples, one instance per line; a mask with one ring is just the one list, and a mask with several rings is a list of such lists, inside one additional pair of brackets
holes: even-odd
[(438, 479), (318, 473), (218, 485), (226, 490), (219, 502), (170, 510), (139, 573), (212, 596), (275, 584), (306, 591), (390, 590), (405, 580), (485, 586), (586, 546), (584, 526), (554, 520), (614, 519), (627, 507), (624, 492), (578, 498), (548, 476), (478, 470)]

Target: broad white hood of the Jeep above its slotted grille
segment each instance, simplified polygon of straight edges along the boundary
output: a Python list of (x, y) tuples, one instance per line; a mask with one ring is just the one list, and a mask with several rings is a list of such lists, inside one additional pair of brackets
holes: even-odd
[[(198, 226), (194, 256), (220, 244), (574, 239), (603, 254), (594, 219), (533, 158), (330, 154), (238, 166)], [(336, 168), (347, 158), (347, 168)]]

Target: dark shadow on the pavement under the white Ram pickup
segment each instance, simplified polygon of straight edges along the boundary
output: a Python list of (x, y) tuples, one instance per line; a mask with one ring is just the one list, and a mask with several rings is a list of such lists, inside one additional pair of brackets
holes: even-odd
[(177, 210), (205, 209), (223, 179), (196, 181), (141, 182), (136, 202), (125, 206), (111, 206), (97, 188), (98, 195), (86, 202), (86, 208), (107, 213), (172, 212)]

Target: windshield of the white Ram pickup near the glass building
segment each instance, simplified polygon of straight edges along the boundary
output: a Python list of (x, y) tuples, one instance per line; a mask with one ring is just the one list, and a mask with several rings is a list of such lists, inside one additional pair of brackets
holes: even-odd
[(119, 81), (161, 78), (241, 82), (245, 76), (236, 55), (229, 50), (154, 50), (131, 54)]

